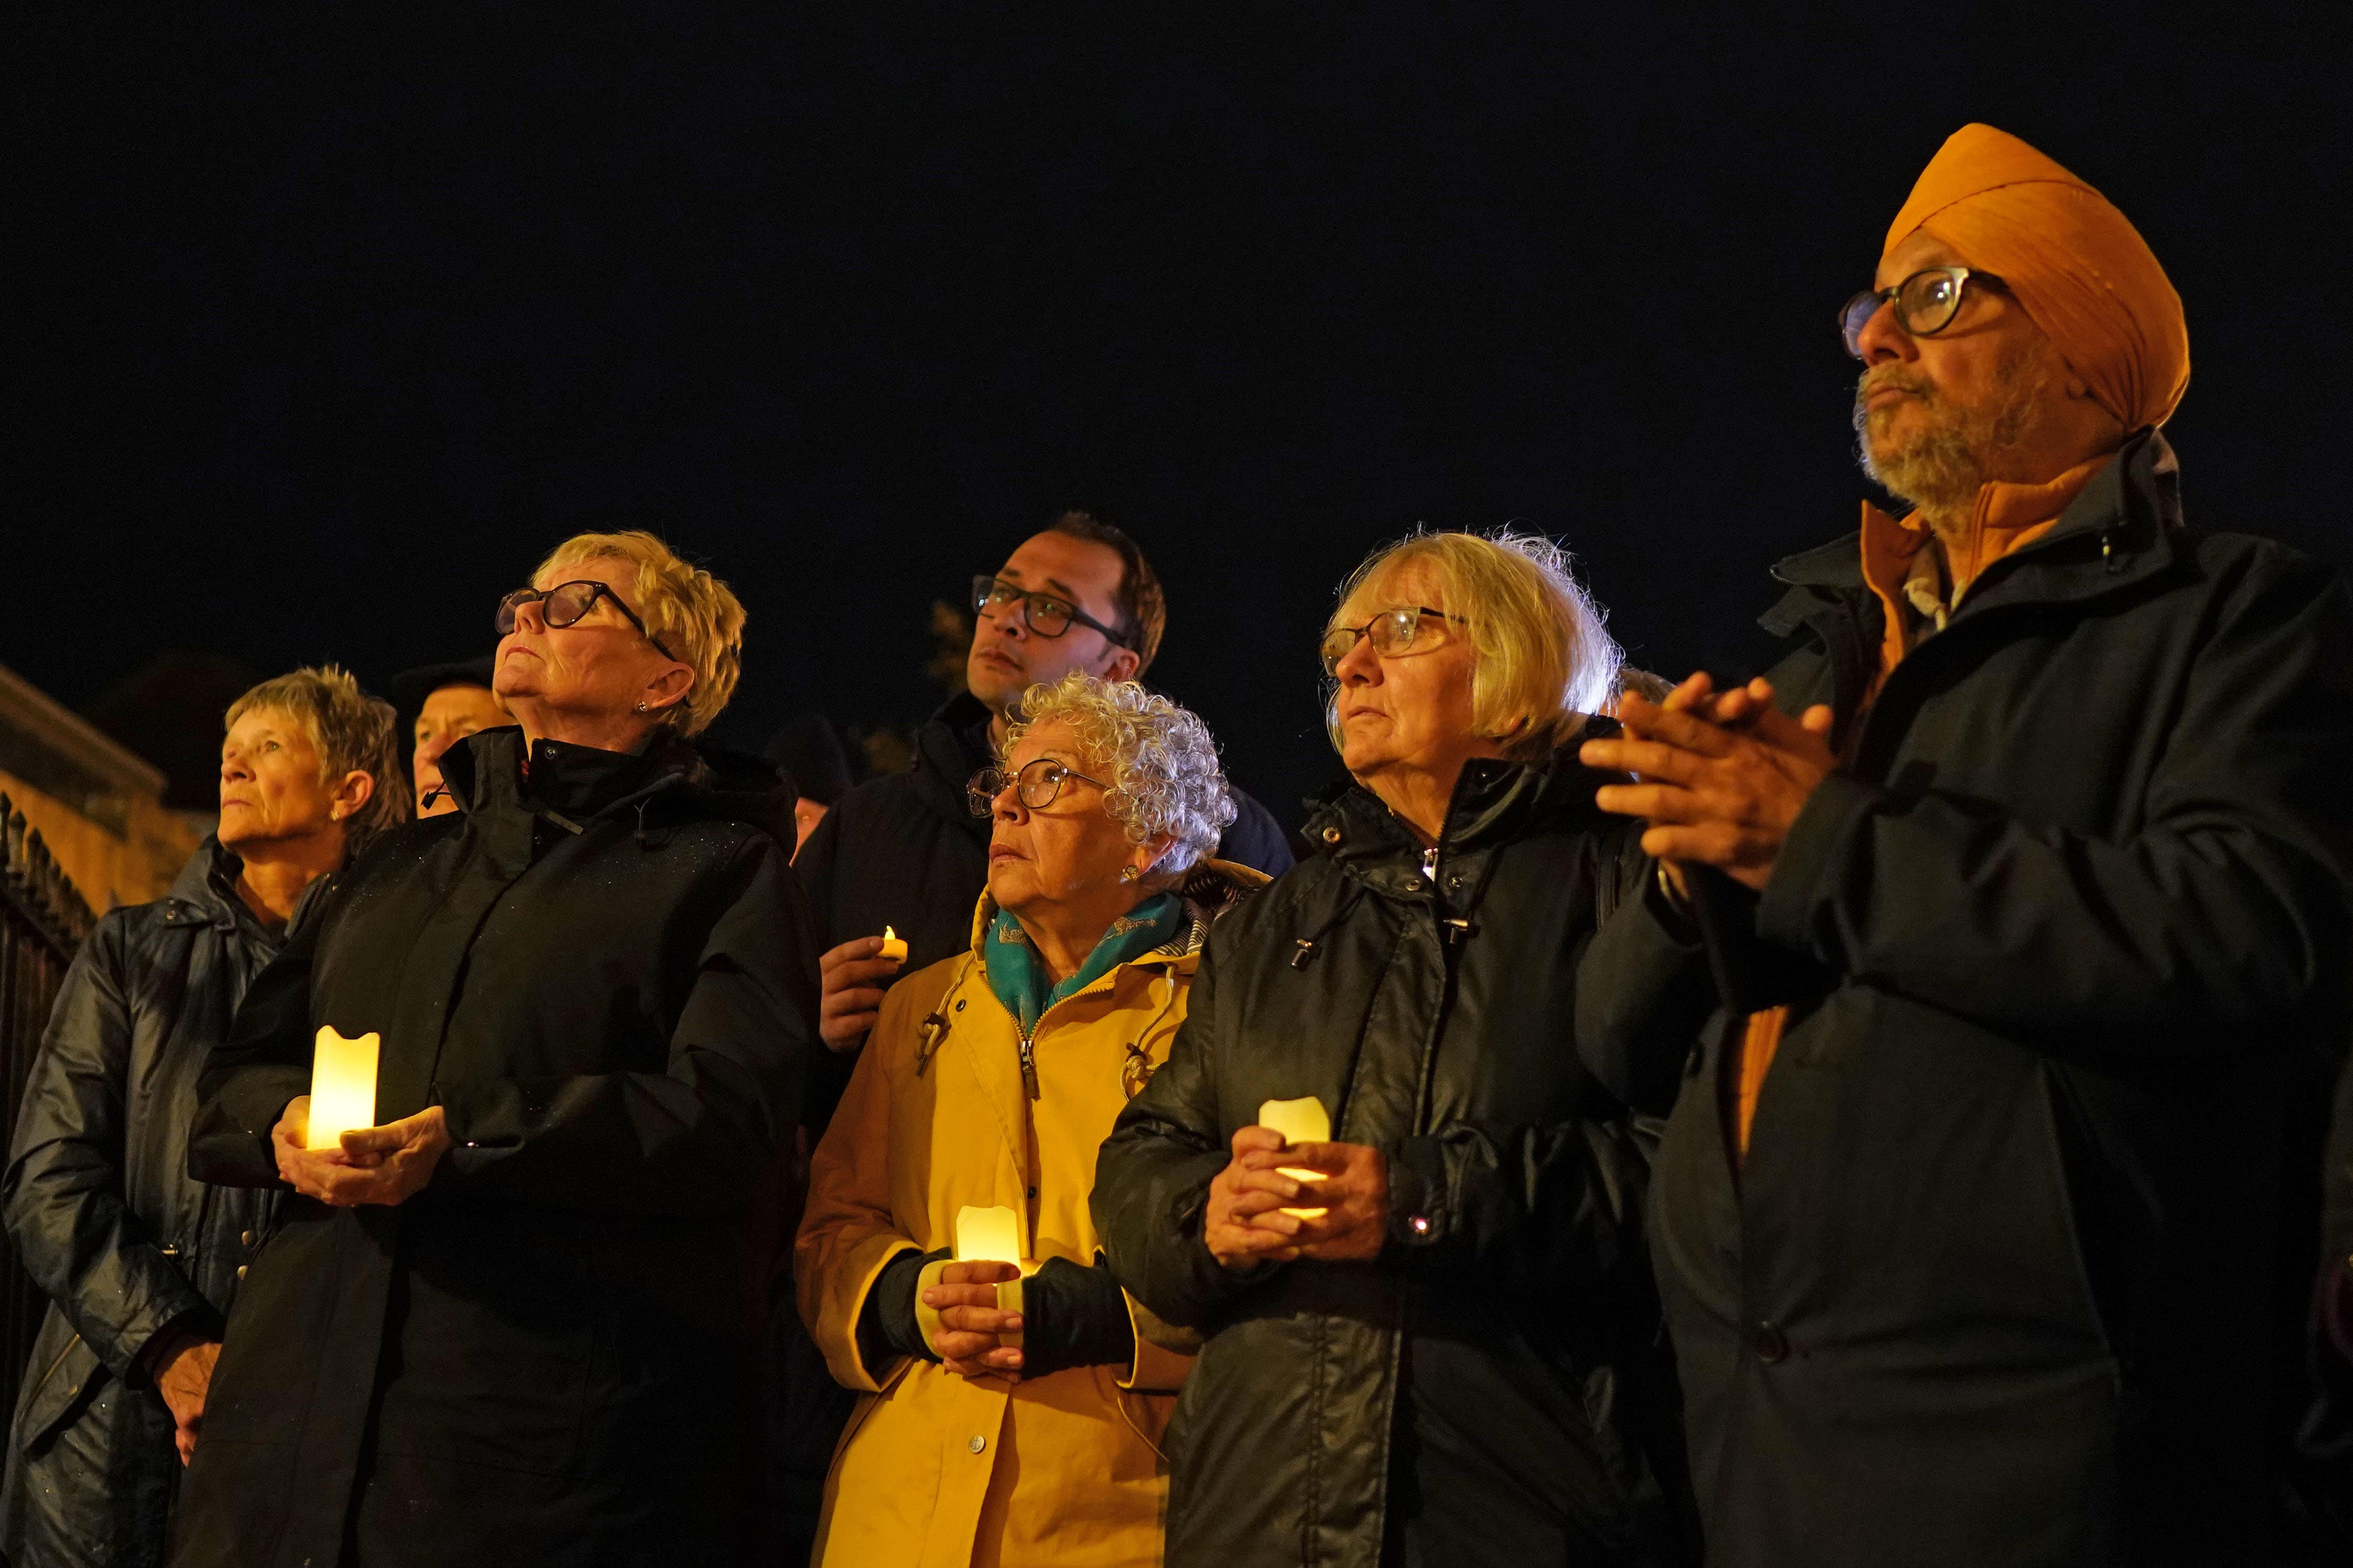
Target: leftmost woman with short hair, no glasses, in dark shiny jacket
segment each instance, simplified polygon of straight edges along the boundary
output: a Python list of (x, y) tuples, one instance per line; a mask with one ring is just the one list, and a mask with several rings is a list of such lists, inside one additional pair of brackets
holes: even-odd
[(195, 1077), (334, 872), (407, 818), (393, 710), (327, 665), (228, 708), (221, 823), (82, 943), (26, 1079), (9, 1239), (49, 1293), (0, 1490), (0, 1559), (160, 1563), (221, 1324), (278, 1213), (188, 1178)]

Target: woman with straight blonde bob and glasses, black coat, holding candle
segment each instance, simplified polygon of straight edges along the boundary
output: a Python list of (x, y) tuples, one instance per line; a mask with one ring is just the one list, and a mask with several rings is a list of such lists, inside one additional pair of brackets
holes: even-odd
[(1167, 1561), (1697, 1561), (1647, 1145), (1574, 1037), (1577, 954), (1647, 875), (1574, 752), (1619, 651), (1558, 545), (1419, 534), (1320, 654), (1351, 780), (1096, 1171), (1113, 1274), (1207, 1335)]

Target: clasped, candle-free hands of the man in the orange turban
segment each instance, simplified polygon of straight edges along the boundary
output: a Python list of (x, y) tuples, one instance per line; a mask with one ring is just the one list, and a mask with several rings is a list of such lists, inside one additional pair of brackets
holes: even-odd
[(1838, 766), (1831, 710), (1791, 719), (1772, 696), (1762, 679), (1718, 693), (1706, 675), (1664, 703), (1628, 691), (1619, 701), (1626, 733), (1586, 741), (1577, 755), (1635, 783), (1602, 785), (1593, 802), (1645, 818), (1642, 851), (1661, 863), (1713, 865), (1762, 891), (1814, 785)]

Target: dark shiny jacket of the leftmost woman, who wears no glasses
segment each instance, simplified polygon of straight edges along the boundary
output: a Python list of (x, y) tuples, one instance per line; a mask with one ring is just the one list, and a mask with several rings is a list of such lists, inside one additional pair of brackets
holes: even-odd
[[(0, 1187), (49, 1295), (0, 1493), (0, 1559), (26, 1568), (162, 1561), (179, 1450), (139, 1354), (169, 1324), (219, 1335), (271, 1232), (275, 1194), (188, 1178), (195, 1074), (280, 943), (238, 870), (205, 839), (165, 898), (106, 914), (26, 1079)], [(296, 929), (325, 889), (306, 889)]]

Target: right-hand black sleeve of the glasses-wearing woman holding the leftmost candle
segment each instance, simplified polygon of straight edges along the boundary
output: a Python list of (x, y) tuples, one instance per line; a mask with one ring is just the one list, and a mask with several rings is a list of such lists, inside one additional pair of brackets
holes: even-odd
[(591, 1213), (729, 1213), (800, 1114), (816, 957), (784, 849), (753, 835), (704, 940), (666, 1072), (435, 1084), (456, 1147), (435, 1190)]

